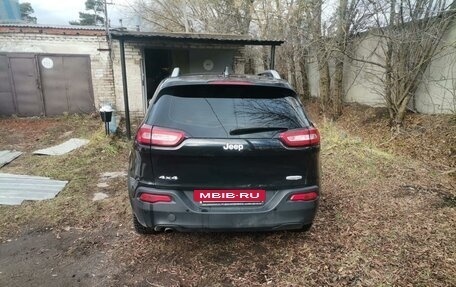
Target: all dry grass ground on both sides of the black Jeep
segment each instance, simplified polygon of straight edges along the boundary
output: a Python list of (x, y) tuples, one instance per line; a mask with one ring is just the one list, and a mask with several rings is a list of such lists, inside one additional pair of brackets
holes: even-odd
[(116, 230), (118, 237), (102, 247), (107, 268), (116, 267), (112, 286), (456, 285), (454, 179), (439, 166), (379, 147), (363, 132), (353, 136), (319, 119), (323, 197), (308, 233), (144, 237), (125, 225), (124, 182), (112, 186), (110, 200), (91, 201), (101, 171), (126, 169), (128, 143), (88, 123), (97, 127), (88, 147), (64, 157), (26, 155), (7, 167), (70, 184), (51, 201), (0, 207), (0, 234), (40, 225)]

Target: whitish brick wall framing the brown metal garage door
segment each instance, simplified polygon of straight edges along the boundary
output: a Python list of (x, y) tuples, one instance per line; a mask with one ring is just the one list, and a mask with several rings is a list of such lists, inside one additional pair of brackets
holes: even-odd
[(100, 30), (0, 27), (0, 53), (89, 55), (95, 106), (115, 104), (106, 37)]

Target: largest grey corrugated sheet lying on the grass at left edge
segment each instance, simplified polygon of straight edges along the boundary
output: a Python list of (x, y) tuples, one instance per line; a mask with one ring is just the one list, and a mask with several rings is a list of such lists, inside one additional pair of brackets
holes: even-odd
[(67, 183), (48, 177), (0, 173), (0, 204), (19, 205), (24, 200), (51, 199)]

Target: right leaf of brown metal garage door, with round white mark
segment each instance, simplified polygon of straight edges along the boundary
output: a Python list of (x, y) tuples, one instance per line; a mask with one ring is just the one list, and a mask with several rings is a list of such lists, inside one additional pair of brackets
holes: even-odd
[(38, 56), (46, 115), (95, 110), (88, 56)]

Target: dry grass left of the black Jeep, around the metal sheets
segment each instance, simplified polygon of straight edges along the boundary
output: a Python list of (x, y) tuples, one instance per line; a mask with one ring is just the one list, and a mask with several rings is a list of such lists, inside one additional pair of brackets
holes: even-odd
[[(21, 206), (0, 207), (0, 236), (23, 232), (29, 228), (44, 229), (62, 226), (95, 226), (105, 218), (105, 210), (126, 210), (126, 192), (111, 195), (105, 202), (92, 202), (99, 175), (105, 171), (125, 171), (129, 144), (117, 137), (106, 137), (98, 119), (70, 116), (66, 118), (2, 120), (0, 134), (11, 130), (28, 135), (23, 142), (19, 137), (3, 136), (1, 149), (16, 148), (26, 151), (21, 157), (1, 169), (1, 172), (46, 176), (67, 180), (66, 188), (53, 200), (25, 202)], [(19, 127), (19, 128), (18, 128)], [(71, 137), (90, 139), (90, 143), (62, 156), (37, 156), (31, 151), (61, 143)], [(34, 140), (31, 141), (31, 139)], [(34, 144), (35, 143), (35, 144)], [(123, 181), (124, 179), (122, 179)], [(114, 182), (125, 187), (124, 182)], [(121, 198), (121, 200), (119, 200)]]

